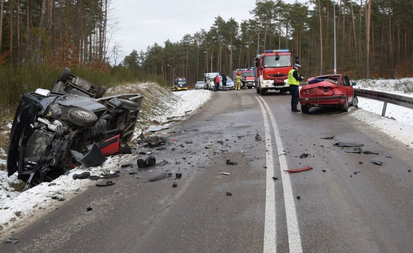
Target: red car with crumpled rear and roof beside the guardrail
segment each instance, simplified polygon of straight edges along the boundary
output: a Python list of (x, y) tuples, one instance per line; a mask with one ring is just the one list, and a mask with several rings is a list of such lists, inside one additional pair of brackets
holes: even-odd
[(332, 74), (311, 78), (308, 84), (300, 89), (300, 104), (303, 113), (308, 113), (311, 107), (337, 107), (343, 112), (349, 111), (349, 106), (357, 107), (358, 99), (354, 95), (353, 86), (347, 75)]

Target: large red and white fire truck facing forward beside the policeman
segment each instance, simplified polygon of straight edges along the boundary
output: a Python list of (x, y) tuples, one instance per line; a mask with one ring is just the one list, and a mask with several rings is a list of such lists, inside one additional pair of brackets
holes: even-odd
[[(298, 56), (295, 63), (299, 64)], [(289, 91), (288, 72), (292, 69), (291, 52), (288, 49), (266, 50), (254, 59), (255, 85), (257, 93), (264, 95), (269, 90)]]

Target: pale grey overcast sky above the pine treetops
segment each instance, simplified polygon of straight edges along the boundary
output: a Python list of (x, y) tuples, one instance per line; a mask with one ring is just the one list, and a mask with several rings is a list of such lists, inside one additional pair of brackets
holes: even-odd
[[(294, 2), (293, 0), (284, 0)], [(300, 0), (300, 2), (303, 2)], [(234, 17), (240, 23), (252, 18), (254, 0), (113, 0), (118, 22), (112, 42), (122, 47), (122, 57), (132, 50), (146, 51), (155, 42), (164, 46), (180, 41), (185, 34), (194, 34), (213, 25), (215, 17)]]

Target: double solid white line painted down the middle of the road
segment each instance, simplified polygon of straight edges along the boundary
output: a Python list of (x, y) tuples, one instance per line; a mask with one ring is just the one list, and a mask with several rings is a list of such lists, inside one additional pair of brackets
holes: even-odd
[[(280, 162), (281, 179), (283, 181), (284, 189), (284, 202), (286, 206), (286, 221), (288, 231), (288, 244), (290, 253), (302, 253), (302, 245), (300, 238), (300, 230), (298, 228), (297, 213), (295, 210), (294, 198), (291, 189), (291, 182), (288, 173), (283, 171), (287, 169), (287, 162), (285, 155), (283, 155), (283, 144), (281, 142), (280, 133), (278, 132), (277, 123), (271, 113), (270, 107), (267, 102), (258, 95), (253, 94), (257, 99), (262, 116), (264, 118), (265, 128), (265, 144), (267, 149), (267, 187), (266, 187), (266, 200), (265, 200), (265, 225), (264, 225), (264, 253), (277, 252), (277, 237), (276, 237), (276, 215), (275, 215), (275, 192), (274, 192), (274, 166), (273, 166), (273, 153), (271, 147), (271, 135), (270, 125), (268, 124), (268, 118), (274, 131), (275, 142), (277, 145), (277, 156)], [(265, 108), (264, 108), (265, 106)], [(267, 109), (267, 111), (266, 111)]]

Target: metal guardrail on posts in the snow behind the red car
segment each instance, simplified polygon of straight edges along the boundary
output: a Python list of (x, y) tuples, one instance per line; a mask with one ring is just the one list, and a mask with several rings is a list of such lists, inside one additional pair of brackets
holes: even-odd
[(413, 98), (412, 97), (390, 94), (390, 93), (380, 92), (380, 91), (365, 90), (365, 89), (354, 89), (354, 93), (359, 97), (383, 101), (384, 102), (383, 110), (381, 111), (382, 117), (384, 117), (386, 114), (387, 103), (392, 103), (392, 104), (396, 104), (396, 105), (400, 105), (406, 108), (413, 109)]

